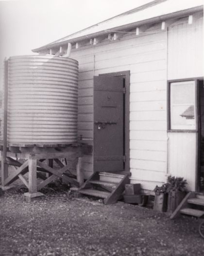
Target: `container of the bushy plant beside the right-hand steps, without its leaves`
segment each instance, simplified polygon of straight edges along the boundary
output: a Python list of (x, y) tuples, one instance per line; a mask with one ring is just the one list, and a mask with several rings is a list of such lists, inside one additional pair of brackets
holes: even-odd
[(168, 196), (168, 208), (167, 211), (172, 214), (179, 206), (180, 202), (186, 196), (186, 192), (182, 191), (170, 191)]

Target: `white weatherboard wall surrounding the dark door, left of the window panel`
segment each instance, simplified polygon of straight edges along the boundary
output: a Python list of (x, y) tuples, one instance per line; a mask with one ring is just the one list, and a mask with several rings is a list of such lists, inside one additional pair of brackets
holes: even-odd
[[(161, 24), (142, 36), (128, 34), (107, 44), (79, 48), (78, 134), (93, 140), (93, 76), (130, 70), (131, 182), (153, 190), (166, 181), (167, 170), (167, 32)], [(92, 156), (83, 158), (85, 176), (93, 172)]]

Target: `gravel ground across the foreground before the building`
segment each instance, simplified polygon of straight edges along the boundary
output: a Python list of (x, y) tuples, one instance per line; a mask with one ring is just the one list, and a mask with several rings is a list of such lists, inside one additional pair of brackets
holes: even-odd
[(0, 256), (204, 256), (198, 224), (66, 191), (26, 203), (11, 189), (0, 197)]

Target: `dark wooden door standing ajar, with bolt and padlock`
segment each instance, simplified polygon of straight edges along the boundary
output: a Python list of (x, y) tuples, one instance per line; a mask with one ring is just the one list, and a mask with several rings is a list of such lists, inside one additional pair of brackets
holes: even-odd
[(94, 171), (124, 170), (123, 79), (94, 77)]

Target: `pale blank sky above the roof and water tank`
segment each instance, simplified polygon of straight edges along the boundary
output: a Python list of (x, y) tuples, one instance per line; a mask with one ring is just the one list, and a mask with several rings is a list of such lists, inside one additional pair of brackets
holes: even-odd
[(152, 0), (0, 0), (0, 86), (3, 60)]

